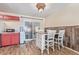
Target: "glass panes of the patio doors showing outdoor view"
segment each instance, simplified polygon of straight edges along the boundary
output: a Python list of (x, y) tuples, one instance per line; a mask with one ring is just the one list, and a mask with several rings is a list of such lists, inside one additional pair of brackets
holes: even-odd
[(29, 22), (25, 21), (25, 39), (33, 40), (36, 38), (36, 27), (40, 27), (39, 22)]

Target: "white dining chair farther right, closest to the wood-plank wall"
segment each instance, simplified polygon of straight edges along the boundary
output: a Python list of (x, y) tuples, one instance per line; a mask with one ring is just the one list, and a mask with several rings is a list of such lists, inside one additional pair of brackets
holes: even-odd
[(58, 38), (55, 38), (55, 43), (58, 45), (58, 48), (60, 49), (60, 47), (64, 47), (63, 39), (65, 35), (65, 30), (59, 30), (59, 33), (57, 34), (58, 34)]

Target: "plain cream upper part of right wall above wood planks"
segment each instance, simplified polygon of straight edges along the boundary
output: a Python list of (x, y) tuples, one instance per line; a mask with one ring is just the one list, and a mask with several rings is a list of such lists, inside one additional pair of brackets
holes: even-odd
[(69, 4), (56, 15), (45, 19), (45, 27), (73, 26), (79, 25), (79, 4)]

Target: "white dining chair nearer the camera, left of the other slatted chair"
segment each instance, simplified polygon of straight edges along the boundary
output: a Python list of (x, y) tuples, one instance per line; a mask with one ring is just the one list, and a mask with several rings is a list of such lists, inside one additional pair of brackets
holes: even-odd
[(54, 37), (56, 34), (56, 30), (47, 30), (47, 52), (49, 54), (49, 47), (51, 47), (54, 51)]

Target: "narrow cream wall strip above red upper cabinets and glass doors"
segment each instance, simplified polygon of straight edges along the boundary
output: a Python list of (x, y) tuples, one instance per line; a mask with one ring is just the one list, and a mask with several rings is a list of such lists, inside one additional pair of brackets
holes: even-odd
[(6, 12), (0, 12), (0, 14), (2, 15), (11, 15), (11, 16), (19, 16), (19, 17), (23, 17), (23, 18), (29, 18), (29, 19), (36, 19), (41, 20), (41, 28), (44, 29), (45, 27), (45, 19), (44, 18), (40, 18), (40, 17), (32, 17), (32, 16), (27, 16), (27, 15), (20, 15), (20, 14), (14, 14), (14, 13), (6, 13)]

